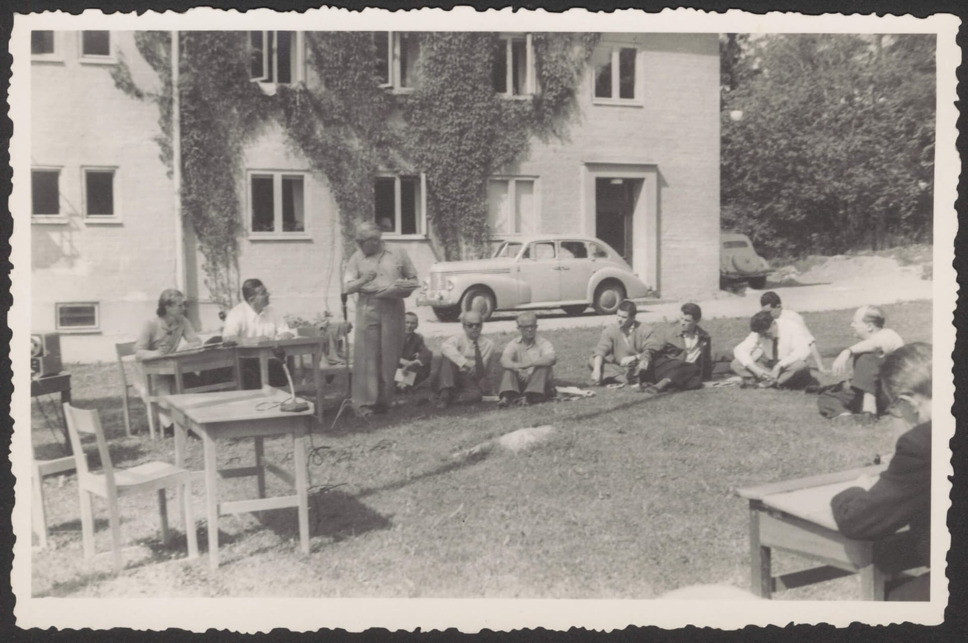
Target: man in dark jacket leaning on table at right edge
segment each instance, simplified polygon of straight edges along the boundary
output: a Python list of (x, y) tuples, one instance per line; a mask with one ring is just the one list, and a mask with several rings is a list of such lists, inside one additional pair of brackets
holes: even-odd
[[(931, 345), (916, 342), (892, 352), (881, 365), (889, 413), (915, 425), (897, 440), (887, 470), (876, 481), (831, 500), (833, 519), (849, 538), (875, 540), (909, 525), (916, 552), (927, 559), (931, 545)], [(928, 600), (930, 572), (898, 585), (888, 600)]]

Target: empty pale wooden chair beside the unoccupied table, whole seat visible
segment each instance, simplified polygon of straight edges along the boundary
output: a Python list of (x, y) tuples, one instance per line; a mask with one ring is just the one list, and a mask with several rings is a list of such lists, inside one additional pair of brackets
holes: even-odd
[[(188, 537), (188, 557), (198, 555), (198, 541), (195, 518), (192, 514), (192, 473), (166, 462), (145, 462), (130, 469), (114, 470), (111, 455), (107, 450), (105, 434), (101, 428), (101, 417), (97, 411), (76, 409), (64, 405), (68, 433), (74, 447), (77, 470), (77, 490), (80, 495), (80, 528), (84, 543), (84, 558), (94, 558), (94, 513), (92, 496), (106, 500), (108, 519), (111, 529), (111, 543), (114, 551), (114, 570), (121, 571), (121, 519), (118, 511), (118, 498), (138, 493), (155, 491), (158, 493), (158, 511), (162, 520), (162, 542), (169, 542), (166, 490), (179, 491), (182, 501), (182, 516), (185, 535)], [(87, 468), (87, 458), (80, 443), (80, 434), (93, 434), (97, 439), (101, 455), (101, 473), (92, 473)]]

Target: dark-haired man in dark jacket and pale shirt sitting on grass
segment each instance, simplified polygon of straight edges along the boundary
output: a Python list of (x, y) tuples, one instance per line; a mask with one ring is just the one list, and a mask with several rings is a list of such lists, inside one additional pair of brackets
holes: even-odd
[(699, 327), (703, 310), (694, 303), (681, 307), (679, 322), (665, 323), (656, 333), (659, 348), (651, 354), (650, 379), (641, 390), (650, 395), (703, 387), (712, 377), (710, 334)]

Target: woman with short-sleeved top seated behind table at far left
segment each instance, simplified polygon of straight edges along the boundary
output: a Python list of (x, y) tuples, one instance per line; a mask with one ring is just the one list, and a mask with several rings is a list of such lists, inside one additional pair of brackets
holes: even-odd
[[(173, 288), (162, 291), (158, 297), (156, 317), (148, 320), (141, 327), (135, 341), (135, 356), (137, 359), (155, 357), (175, 352), (182, 340), (186, 348), (201, 346), (195, 328), (185, 318), (185, 295)], [(138, 374), (139, 377), (143, 377)], [(174, 376), (155, 376), (155, 394), (166, 395), (174, 389)], [(198, 376), (194, 373), (184, 375), (186, 387), (198, 385)], [(164, 409), (159, 409), (159, 419), (163, 427), (171, 424), (171, 419)]]

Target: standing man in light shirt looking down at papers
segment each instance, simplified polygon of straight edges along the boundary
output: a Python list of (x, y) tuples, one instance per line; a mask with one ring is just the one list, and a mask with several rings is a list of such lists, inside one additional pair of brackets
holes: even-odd
[(358, 293), (353, 335), (353, 405), (366, 417), (393, 402), (393, 377), (404, 343), (404, 298), (417, 272), (401, 248), (390, 250), (372, 221), (356, 227), (358, 250), (347, 262), (344, 290)]

